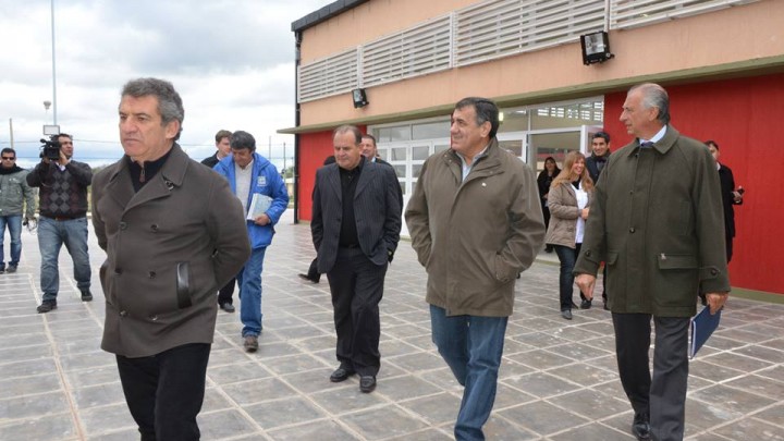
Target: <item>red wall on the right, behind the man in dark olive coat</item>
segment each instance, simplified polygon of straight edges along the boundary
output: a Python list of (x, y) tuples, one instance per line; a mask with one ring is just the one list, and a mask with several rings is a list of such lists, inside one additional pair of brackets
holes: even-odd
[[(735, 207), (733, 286), (784, 294), (784, 166), (779, 124), (784, 122), (784, 74), (667, 86), (672, 124), (682, 134), (719, 144), (722, 163), (746, 188)], [(626, 93), (604, 97), (612, 150), (632, 140), (618, 122)]]

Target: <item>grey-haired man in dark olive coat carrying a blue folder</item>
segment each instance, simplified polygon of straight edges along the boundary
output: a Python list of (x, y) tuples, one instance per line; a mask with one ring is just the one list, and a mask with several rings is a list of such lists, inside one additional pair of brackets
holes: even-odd
[(621, 121), (637, 139), (604, 167), (574, 270), (590, 298), (599, 264), (608, 265), (618, 372), (635, 411), (632, 432), (659, 441), (683, 439), (697, 294), (707, 294), (714, 314), (730, 291), (715, 163), (702, 143), (669, 124), (669, 107), (659, 85), (628, 91)]

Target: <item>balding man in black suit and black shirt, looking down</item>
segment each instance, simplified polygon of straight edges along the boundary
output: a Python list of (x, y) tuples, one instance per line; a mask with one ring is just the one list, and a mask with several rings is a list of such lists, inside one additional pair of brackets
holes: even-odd
[(381, 366), (378, 305), (400, 241), (402, 207), (394, 171), (362, 155), (362, 136), (353, 125), (335, 128), (336, 163), (316, 172), (310, 231), (334, 307), (340, 367), (330, 381), (358, 373), (367, 393)]

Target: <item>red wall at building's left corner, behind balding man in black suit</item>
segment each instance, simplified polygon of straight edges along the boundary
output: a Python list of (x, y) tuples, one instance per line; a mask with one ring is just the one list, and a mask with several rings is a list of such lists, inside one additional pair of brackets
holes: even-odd
[[(359, 130), (366, 132), (366, 126)], [(299, 219), (313, 218), (313, 189), (316, 184), (316, 170), (323, 166), (324, 159), (333, 155), (332, 131), (306, 133), (299, 135)]]

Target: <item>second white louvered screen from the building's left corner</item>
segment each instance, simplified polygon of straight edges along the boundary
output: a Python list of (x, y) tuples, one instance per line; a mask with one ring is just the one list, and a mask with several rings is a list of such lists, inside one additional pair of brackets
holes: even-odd
[(450, 16), (444, 15), (363, 47), (363, 86), (450, 68)]

